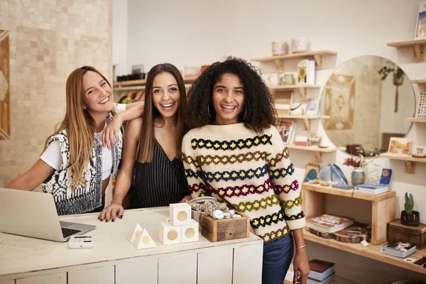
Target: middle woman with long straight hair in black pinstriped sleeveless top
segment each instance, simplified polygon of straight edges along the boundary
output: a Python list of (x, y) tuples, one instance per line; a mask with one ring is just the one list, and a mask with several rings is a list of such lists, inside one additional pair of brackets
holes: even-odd
[(187, 196), (180, 149), (185, 134), (185, 84), (179, 70), (168, 63), (155, 65), (146, 78), (143, 117), (129, 121), (124, 134), (121, 169), (111, 204), (101, 221), (123, 217), (122, 206), (131, 182), (131, 208), (168, 206)]

